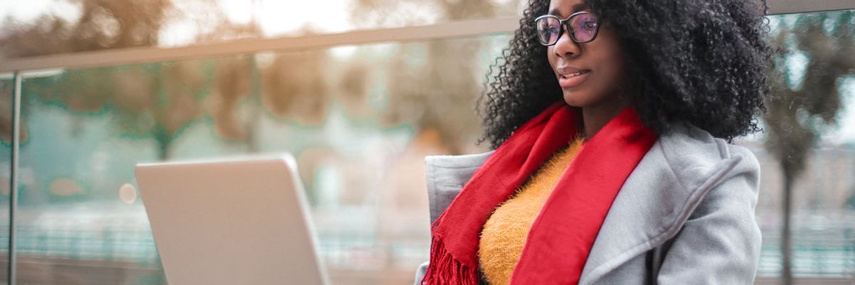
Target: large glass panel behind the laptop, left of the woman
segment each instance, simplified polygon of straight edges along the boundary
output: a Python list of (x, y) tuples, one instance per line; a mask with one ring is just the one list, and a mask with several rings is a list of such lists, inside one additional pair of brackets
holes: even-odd
[[(162, 284), (133, 165), (290, 151), (334, 284), (428, 260), (428, 154), (485, 151), (474, 100), (508, 35), (27, 78), (21, 282)], [(443, 72), (429, 72), (442, 68)], [(458, 108), (449, 108), (457, 106)], [(463, 123), (461, 123), (463, 122)]]

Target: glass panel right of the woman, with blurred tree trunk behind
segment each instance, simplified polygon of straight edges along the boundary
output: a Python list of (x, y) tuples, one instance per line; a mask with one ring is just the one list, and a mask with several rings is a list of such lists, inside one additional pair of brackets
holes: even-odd
[[(796, 277), (855, 278), (853, 11), (769, 16), (775, 58), (764, 134), (743, 141), (761, 164), (758, 276), (780, 276), (784, 193), (792, 186)], [(845, 281), (844, 281), (845, 282)]]

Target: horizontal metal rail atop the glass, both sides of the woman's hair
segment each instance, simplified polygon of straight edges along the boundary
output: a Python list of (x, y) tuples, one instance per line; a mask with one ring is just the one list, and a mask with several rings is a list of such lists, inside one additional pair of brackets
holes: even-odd
[[(855, 0), (768, 0), (775, 14), (855, 9)], [(0, 74), (54, 68), (95, 68), (143, 62), (168, 62), (257, 52), (312, 50), (340, 45), (365, 45), (453, 39), (495, 33), (513, 33), (519, 18), (454, 21), (421, 27), (397, 27), (275, 39), (239, 39), (229, 42), (176, 48), (139, 47), (10, 58), (0, 61)]]

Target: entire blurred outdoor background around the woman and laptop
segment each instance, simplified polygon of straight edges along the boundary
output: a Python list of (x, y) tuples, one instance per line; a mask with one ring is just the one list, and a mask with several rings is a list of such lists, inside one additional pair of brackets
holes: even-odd
[[(512, 19), (524, 4), (6, 1), (0, 64)], [(768, 19), (782, 52), (769, 66), (765, 130), (735, 142), (763, 171), (758, 283), (852, 284), (855, 10)], [(475, 98), (511, 33), (21, 70), (17, 283), (165, 284), (133, 165), (275, 151), (298, 158), (334, 284), (412, 282), (430, 246), (423, 157), (487, 150), (475, 144)], [(0, 74), (0, 283), (9, 275), (14, 80)]]

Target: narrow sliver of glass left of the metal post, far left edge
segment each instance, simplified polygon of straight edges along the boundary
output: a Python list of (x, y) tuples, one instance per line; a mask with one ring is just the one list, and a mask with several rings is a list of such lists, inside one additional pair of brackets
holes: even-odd
[[(15, 80), (0, 74), (0, 284), (9, 284), (9, 179), (12, 173), (12, 101)], [(21, 132), (21, 135), (26, 135)]]

